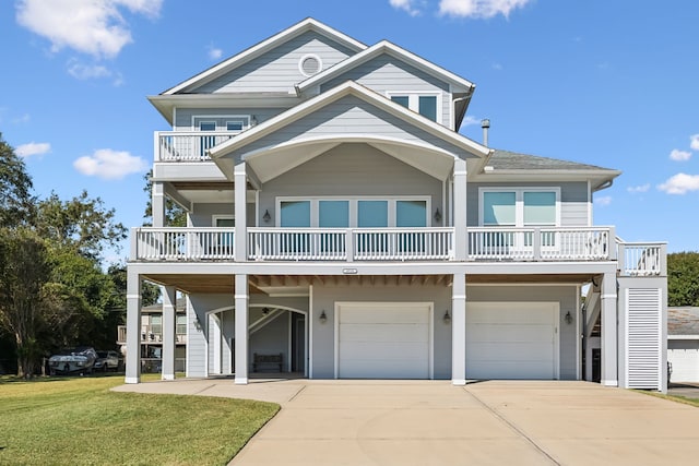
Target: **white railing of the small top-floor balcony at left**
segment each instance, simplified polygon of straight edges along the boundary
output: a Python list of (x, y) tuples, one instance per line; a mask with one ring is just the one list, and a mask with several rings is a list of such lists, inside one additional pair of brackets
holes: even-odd
[(210, 160), (208, 151), (236, 134), (229, 131), (156, 131), (155, 162)]

